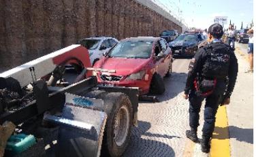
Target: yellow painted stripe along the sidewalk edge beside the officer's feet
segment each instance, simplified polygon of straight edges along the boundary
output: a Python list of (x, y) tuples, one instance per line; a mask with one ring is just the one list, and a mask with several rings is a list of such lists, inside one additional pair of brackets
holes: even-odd
[(214, 133), (211, 140), (210, 156), (230, 156), (227, 110), (225, 106), (220, 106), (216, 115)]

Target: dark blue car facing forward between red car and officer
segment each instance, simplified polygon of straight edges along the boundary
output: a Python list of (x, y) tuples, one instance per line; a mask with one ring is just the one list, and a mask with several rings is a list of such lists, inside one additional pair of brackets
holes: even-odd
[(172, 41), (169, 46), (174, 56), (193, 57), (198, 49), (199, 43), (205, 39), (199, 39), (200, 34), (182, 34)]

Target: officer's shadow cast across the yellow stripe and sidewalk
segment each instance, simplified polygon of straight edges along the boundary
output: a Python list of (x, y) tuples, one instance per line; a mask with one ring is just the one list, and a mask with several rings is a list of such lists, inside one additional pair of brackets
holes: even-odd
[(229, 139), (230, 137), (253, 144), (253, 129), (242, 129), (235, 126), (229, 126), (228, 129), (229, 135), (225, 133), (227, 127), (215, 127), (214, 133), (217, 133), (217, 135), (212, 135), (212, 139)]

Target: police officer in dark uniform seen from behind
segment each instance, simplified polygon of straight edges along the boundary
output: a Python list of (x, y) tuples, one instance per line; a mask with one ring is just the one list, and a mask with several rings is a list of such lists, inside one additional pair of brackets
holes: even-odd
[(194, 142), (198, 141), (197, 127), (202, 101), (206, 99), (204, 126), (202, 129), (202, 152), (210, 151), (210, 139), (214, 131), (214, 122), (219, 101), (229, 104), (230, 95), (236, 83), (238, 62), (234, 49), (221, 41), (223, 27), (212, 24), (208, 28), (208, 44), (199, 48), (189, 64), (189, 74), (184, 97), (189, 98), (189, 126), (186, 135)]

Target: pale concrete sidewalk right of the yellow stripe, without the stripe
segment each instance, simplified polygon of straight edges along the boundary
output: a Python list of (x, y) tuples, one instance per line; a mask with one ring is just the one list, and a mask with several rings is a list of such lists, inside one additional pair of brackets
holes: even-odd
[(236, 44), (238, 78), (227, 106), (231, 156), (253, 156), (253, 74), (244, 73), (249, 63), (246, 45)]

